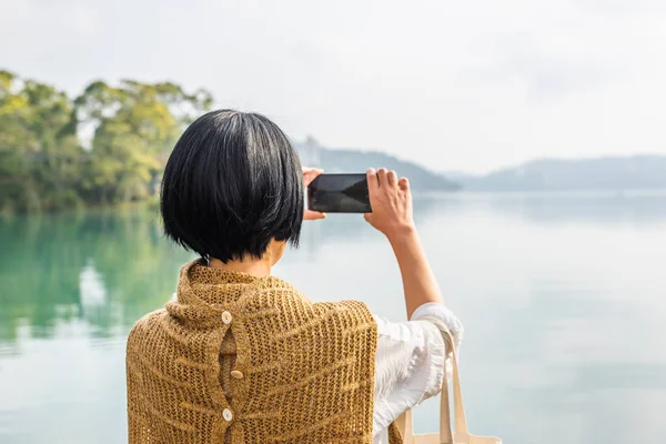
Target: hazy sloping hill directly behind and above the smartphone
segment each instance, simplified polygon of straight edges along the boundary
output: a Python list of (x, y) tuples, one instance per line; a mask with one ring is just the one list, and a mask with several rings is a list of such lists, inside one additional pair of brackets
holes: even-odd
[(390, 154), (376, 151), (324, 148), (311, 138), (303, 143), (296, 143), (295, 148), (304, 165), (322, 168), (326, 173), (363, 173), (370, 167), (383, 167), (408, 178), (414, 191), (460, 189), (457, 183), (442, 174)]

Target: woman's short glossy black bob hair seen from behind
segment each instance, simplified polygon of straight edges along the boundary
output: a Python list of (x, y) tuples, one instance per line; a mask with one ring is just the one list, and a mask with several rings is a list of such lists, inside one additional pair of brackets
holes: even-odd
[(272, 239), (297, 246), (303, 171), (286, 135), (263, 115), (209, 112), (169, 157), (160, 210), (168, 238), (204, 259), (261, 258)]

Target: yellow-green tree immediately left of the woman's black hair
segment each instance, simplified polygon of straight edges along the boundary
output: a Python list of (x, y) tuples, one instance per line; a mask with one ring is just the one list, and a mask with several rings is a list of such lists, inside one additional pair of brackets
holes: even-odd
[(124, 80), (118, 88), (101, 81), (88, 87), (74, 101), (79, 129), (92, 133), (87, 198), (112, 203), (151, 195), (183, 125), (211, 102), (210, 93), (189, 95), (173, 83)]

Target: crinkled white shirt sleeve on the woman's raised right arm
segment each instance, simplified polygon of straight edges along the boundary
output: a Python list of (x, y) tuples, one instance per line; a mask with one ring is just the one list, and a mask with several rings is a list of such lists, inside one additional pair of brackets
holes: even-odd
[(435, 396), (445, 370), (451, 372), (442, 332), (451, 332), (456, 351), (463, 325), (442, 303), (421, 305), (410, 321), (375, 316), (374, 444), (389, 442), (387, 427), (405, 411)]

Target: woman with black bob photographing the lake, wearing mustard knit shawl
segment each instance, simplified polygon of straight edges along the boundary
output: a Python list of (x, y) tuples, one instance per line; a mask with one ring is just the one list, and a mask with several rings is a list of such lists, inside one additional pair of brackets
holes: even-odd
[(440, 392), (442, 332), (457, 346), (462, 326), (423, 253), (406, 179), (369, 170), (365, 220), (393, 248), (410, 321), (312, 303), (271, 276), (302, 220), (325, 216), (303, 208), (320, 173), (262, 115), (214, 111), (183, 133), (161, 212), (167, 235), (201, 259), (128, 339), (131, 444), (396, 443), (392, 423)]

